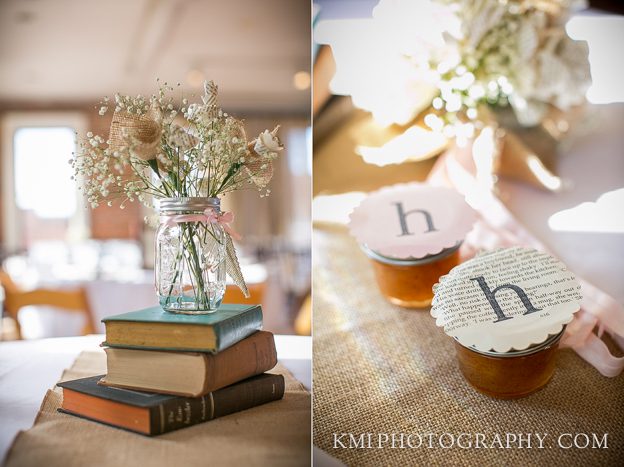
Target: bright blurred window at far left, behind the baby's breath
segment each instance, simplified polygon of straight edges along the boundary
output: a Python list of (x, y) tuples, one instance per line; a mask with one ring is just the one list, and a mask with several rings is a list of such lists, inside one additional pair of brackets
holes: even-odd
[(1, 120), (2, 243), (6, 251), (40, 241), (78, 241), (89, 235), (89, 212), (69, 159), (75, 132), (86, 132), (78, 112), (9, 112)]

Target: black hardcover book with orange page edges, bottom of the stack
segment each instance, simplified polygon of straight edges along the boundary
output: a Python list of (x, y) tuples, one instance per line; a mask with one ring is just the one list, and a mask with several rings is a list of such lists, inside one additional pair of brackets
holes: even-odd
[(63, 388), (59, 411), (148, 436), (279, 400), (285, 389), (282, 375), (268, 373), (194, 398), (102, 386), (100, 378), (59, 383)]

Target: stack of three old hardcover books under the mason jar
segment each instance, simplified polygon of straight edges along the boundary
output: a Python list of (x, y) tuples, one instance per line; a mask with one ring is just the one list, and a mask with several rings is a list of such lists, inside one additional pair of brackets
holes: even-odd
[(144, 435), (212, 420), (281, 399), (284, 377), (259, 305), (212, 314), (159, 307), (109, 316), (107, 374), (59, 383), (72, 415)]

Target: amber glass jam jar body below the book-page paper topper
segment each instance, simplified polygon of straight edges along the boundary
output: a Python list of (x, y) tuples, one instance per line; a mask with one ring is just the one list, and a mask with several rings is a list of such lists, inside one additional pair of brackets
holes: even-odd
[(555, 371), (563, 330), (525, 350), (483, 352), (455, 341), (459, 368), (479, 392), (497, 399), (517, 399), (543, 388)]

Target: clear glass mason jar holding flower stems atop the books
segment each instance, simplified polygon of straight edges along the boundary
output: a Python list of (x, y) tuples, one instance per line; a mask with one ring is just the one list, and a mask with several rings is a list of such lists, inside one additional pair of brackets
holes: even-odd
[(156, 291), (170, 312), (212, 313), (226, 286), (226, 233), (216, 219), (218, 198), (160, 200), (156, 232)]

